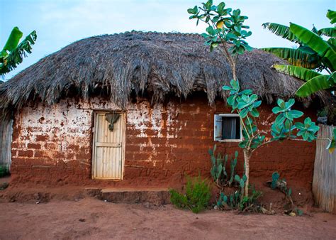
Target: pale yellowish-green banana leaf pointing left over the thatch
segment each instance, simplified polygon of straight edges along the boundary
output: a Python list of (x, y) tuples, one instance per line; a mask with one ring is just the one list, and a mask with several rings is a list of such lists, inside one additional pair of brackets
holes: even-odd
[(283, 72), (286, 75), (291, 75), (293, 77), (298, 77), (306, 82), (311, 80), (313, 77), (321, 76), (320, 73), (304, 67), (296, 67), (292, 65), (274, 65), (274, 68), (279, 72)]

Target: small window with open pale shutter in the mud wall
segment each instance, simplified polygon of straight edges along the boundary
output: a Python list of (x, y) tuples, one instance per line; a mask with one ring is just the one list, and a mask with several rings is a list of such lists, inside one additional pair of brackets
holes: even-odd
[(215, 114), (215, 141), (241, 141), (241, 129), (238, 114)]

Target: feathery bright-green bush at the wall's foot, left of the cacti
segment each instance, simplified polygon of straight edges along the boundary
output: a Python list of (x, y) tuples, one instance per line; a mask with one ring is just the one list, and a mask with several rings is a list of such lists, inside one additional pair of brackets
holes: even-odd
[(202, 180), (201, 176), (196, 178), (187, 177), (186, 193), (169, 190), (170, 201), (176, 207), (190, 209), (194, 213), (201, 212), (208, 206), (211, 198), (211, 187), (207, 180)]

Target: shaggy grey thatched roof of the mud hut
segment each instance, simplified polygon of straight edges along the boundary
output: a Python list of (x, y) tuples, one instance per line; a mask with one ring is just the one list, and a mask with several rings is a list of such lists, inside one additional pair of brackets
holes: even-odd
[[(219, 51), (211, 53), (196, 34), (131, 32), (82, 39), (1, 84), (0, 108), (17, 109), (30, 99), (54, 104), (69, 94), (87, 99), (97, 91), (120, 107), (132, 93), (146, 93), (159, 102), (172, 94), (187, 97), (205, 91), (213, 104), (217, 96), (226, 99), (228, 92), (221, 87), (232, 79)], [(262, 50), (240, 55), (242, 89), (252, 89), (267, 102), (293, 97), (303, 82), (271, 68), (279, 62), (284, 60)]]

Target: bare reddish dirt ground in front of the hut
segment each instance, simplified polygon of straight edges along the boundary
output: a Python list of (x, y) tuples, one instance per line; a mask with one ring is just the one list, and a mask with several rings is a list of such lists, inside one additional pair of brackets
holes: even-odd
[(336, 215), (286, 217), (113, 204), (0, 203), (0, 239), (336, 239)]

